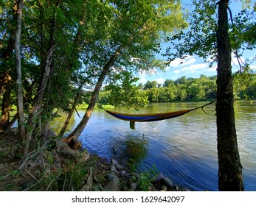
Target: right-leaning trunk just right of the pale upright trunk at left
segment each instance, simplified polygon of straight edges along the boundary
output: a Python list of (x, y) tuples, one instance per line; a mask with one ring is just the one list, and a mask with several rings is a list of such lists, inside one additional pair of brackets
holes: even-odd
[[(56, 7), (59, 7), (60, 1), (56, 4)], [(52, 65), (52, 56), (53, 51), (55, 50), (55, 38), (54, 38), (54, 32), (56, 28), (56, 17), (57, 17), (57, 10), (55, 9), (55, 13), (52, 17), (52, 25), (50, 29), (50, 38), (49, 38), (49, 51), (46, 55), (46, 61), (45, 61), (45, 67), (44, 67), (44, 74), (41, 77), (41, 82), (38, 86), (38, 92), (35, 95), (34, 104), (32, 107), (32, 111), (30, 113), (30, 116), (28, 118), (27, 124), (26, 124), (26, 138), (25, 138), (25, 144), (24, 144), (24, 154), (27, 154), (28, 149), (30, 148), (30, 141), (32, 140), (32, 134), (35, 130), (35, 127), (38, 123), (40, 116), (41, 116), (41, 104), (44, 96), (44, 90), (47, 85), (47, 81), (49, 79), (49, 74), (51, 72), (51, 65)]]

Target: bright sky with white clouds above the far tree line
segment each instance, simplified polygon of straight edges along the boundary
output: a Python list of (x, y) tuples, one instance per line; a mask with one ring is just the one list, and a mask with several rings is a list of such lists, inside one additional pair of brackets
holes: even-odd
[[(241, 4), (234, 1), (230, 4), (232, 15), (234, 16), (236, 12), (241, 10)], [(167, 43), (163, 43), (162, 47), (167, 48)], [(163, 50), (165, 51), (165, 50)], [(162, 52), (163, 52), (162, 51)], [(243, 57), (241, 58), (242, 62), (245, 59), (252, 60), (255, 57), (256, 49), (244, 51)], [(160, 54), (156, 54), (157, 58), (163, 59)], [(164, 59), (165, 60), (165, 59)], [(165, 71), (155, 71), (152, 74), (142, 73), (139, 74), (139, 81), (138, 83), (145, 84), (147, 81), (157, 81), (159, 84), (163, 84), (166, 79), (173, 79), (176, 80), (179, 77), (193, 77), (198, 78), (201, 74), (206, 75), (207, 77), (217, 75), (217, 64), (213, 63), (212, 67), (210, 68), (210, 63), (205, 63), (204, 60), (197, 56), (188, 56), (183, 60), (181, 63), (180, 59), (174, 60), (170, 65), (166, 66)], [(256, 61), (254, 61), (250, 67), (256, 71)], [(239, 65), (238, 60), (235, 57), (235, 54), (232, 54), (232, 72), (238, 71)]]

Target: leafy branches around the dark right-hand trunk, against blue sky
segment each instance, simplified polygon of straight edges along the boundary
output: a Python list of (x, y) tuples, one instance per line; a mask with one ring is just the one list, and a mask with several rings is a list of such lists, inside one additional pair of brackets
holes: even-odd
[[(232, 4), (231, 1), (229, 1)], [(187, 7), (191, 8), (187, 14), (189, 27), (167, 38), (170, 46), (163, 56), (169, 62), (176, 58), (184, 59), (187, 55), (197, 55), (209, 61), (212, 65), (217, 59), (217, 5), (218, 1), (193, 0)], [(255, 48), (255, 10), (248, 7), (230, 16), (229, 37), (232, 52), (241, 57), (246, 49)], [(243, 65), (243, 68), (246, 66)]]

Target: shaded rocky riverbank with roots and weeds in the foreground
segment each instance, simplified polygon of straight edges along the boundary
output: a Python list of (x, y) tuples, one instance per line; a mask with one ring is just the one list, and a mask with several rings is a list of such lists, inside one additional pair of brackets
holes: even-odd
[(187, 191), (161, 173), (139, 173), (54, 136), (18, 160), (16, 139), (15, 131), (0, 133), (0, 191)]

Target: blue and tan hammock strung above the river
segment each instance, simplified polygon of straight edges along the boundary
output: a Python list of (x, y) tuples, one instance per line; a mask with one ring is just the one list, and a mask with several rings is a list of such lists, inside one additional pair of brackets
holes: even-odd
[[(108, 114), (110, 114), (111, 116), (114, 116), (115, 118), (119, 118), (122, 119), (124, 121), (130, 121), (131, 124), (134, 124), (135, 121), (139, 121), (139, 122), (145, 122), (145, 121), (160, 121), (160, 120), (165, 120), (168, 118), (175, 118), (177, 116), (183, 116), (186, 113), (189, 113), (193, 110), (197, 110), (199, 108), (201, 108), (204, 111), (204, 107), (212, 104), (214, 101), (204, 104), (200, 107), (196, 107), (190, 110), (179, 110), (176, 112), (170, 112), (170, 113), (154, 113), (154, 114), (124, 114), (124, 113), (115, 113), (115, 112), (111, 112), (109, 110), (105, 110)], [(205, 112), (204, 112), (205, 113)]]

